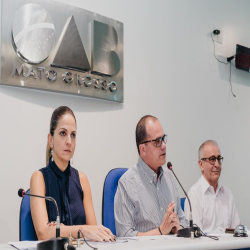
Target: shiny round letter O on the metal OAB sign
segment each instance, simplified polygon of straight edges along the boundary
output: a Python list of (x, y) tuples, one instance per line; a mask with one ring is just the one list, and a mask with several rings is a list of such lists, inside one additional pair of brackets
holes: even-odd
[(15, 14), (12, 43), (26, 63), (45, 61), (55, 42), (55, 27), (49, 13), (38, 4), (25, 4)]

